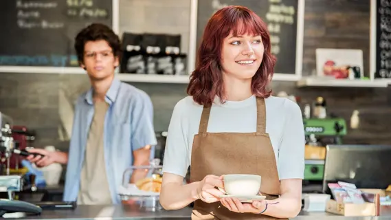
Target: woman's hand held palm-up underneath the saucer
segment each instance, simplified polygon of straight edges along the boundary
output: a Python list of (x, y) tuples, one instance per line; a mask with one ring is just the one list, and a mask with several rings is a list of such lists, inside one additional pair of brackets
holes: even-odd
[(239, 213), (249, 212), (258, 214), (265, 210), (266, 207), (266, 200), (241, 203), (237, 198), (223, 198), (220, 201), (228, 210)]

